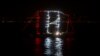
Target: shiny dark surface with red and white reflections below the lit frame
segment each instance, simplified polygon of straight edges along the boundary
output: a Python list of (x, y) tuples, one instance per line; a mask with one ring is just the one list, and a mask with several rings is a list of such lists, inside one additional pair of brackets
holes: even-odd
[[(70, 55), (68, 47), (64, 47), (65, 43), (62, 38), (46, 37), (42, 41), (41, 38), (36, 38), (35, 56), (66, 56)], [(65, 53), (64, 53), (65, 52)]]

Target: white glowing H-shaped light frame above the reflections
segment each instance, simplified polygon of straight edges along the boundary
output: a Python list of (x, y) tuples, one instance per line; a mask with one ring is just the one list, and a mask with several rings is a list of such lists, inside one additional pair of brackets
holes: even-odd
[[(57, 10), (47, 10), (47, 11), (44, 11), (47, 13), (46, 15), (46, 33), (47, 34), (52, 34), (50, 31), (49, 31), (49, 28), (50, 28), (50, 25), (55, 25), (55, 28), (57, 29), (57, 31), (59, 31), (60, 29), (60, 11), (57, 11)], [(50, 22), (50, 19), (51, 19), (51, 16), (50, 16), (50, 13), (56, 13), (57, 15), (55, 16), (56, 17), (56, 20)]]

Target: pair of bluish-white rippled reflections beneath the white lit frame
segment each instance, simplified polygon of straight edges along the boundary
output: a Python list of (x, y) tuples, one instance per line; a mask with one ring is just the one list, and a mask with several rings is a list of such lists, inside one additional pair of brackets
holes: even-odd
[(62, 54), (63, 41), (61, 38), (50, 38), (45, 39), (44, 47), (46, 56), (63, 56)]

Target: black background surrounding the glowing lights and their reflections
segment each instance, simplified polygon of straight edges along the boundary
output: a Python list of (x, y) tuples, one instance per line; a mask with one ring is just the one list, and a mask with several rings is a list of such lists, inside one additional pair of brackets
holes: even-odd
[[(33, 56), (30, 39), (23, 44), (21, 29), (24, 24), (19, 21), (32, 16), (37, 10), (60, 9), (68, 11), (75, 20), (81, 17), (83, 21), (91, 23), (75, 23), (75, 42), (72, 56), (96, 55), (99, 50), (99, 4), (98, 1), (69, 1), (69, 0), (41, 0), (41, 1), (2, 1), (0, 2), (0, 17), (14, 17), (16, 23), (2, 23), (0, 21), (0, 38), (2, 52), (7, 55)], [(84, 18), (86, 17), (86, 18)], [(26, 36), (26, 35), (25, 35)], [(27, 46), (28, 45), (28, 46)], [(27, 47), (25, 47), (27, 46)], [(66, 55), (65, 55), (66, 56)]]

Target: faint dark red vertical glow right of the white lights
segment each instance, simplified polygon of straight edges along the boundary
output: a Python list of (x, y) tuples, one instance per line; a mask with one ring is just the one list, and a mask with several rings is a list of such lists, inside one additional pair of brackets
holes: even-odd
[(68, 15), (68, 19), (66, 21), (67, 24), (67, 28), (68, 28), (68, 33), (66, 34), (66, 47), (67, 49), (70, 49), (72, 47), (72, 42), (74, 40), (74, 27), (73, 27), (73, 21), (72, 21), (72, 17)]

